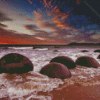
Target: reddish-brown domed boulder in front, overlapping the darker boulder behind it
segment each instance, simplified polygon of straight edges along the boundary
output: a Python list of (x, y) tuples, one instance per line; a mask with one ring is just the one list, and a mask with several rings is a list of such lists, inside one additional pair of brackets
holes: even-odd
[(65, 65), (56, 62), (45, 65), (40, 73), (52, 78), (65, 79), (71, 77), (69, 69)]

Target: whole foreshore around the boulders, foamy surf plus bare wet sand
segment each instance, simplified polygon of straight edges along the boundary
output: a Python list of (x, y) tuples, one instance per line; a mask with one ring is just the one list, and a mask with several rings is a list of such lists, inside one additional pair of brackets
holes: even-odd
[[(81, 52), (83, 49), (89, 52)], [(99, 53), (94, 53), (94, 50), (96, 48), (1, 49), (1, 58), (9, 53), (28, 57), (34, 64), (34, 70), (23, 74), (0, 74), (0, 100), (100, 100), (100, 67), (77, 65), (70, 69), (72, 77), (64, 80), (39, 73), (56, 56), (66, 55), (75, 61), (87, 55), (100, 63), (97, 59)]]

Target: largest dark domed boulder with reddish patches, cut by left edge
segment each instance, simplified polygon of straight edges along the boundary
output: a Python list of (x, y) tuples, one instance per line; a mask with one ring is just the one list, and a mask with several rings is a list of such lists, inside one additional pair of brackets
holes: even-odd
[(21, 74), (32, 70), (32, 62), (21, 54), (10, 53), (0, 59), (0, 73)]

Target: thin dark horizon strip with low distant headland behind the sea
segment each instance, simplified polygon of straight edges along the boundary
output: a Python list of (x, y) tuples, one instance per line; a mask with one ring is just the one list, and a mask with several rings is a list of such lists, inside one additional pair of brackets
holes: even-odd
[(33, 46), (34, 48), (37, 48), (37, 47), (55, 47), (55, 48), (59, 48), (59, 47), (100, 47), (100, 43), (77, 43), (77, 42), (72, 42), (72, 43), (69, 43), (69, 44), (66, 44), (66, 45), (55, 45), (55, 44), (52, 44), (52, 45), (49, 45), (49, 44), (46, 44), (46, 45), (25, 45), (25, 44), (0, 44), (0, 47), (30, 47), (30, 46)]

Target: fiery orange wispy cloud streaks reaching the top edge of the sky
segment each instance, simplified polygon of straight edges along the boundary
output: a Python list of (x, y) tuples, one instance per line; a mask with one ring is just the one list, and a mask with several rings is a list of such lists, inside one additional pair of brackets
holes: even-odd
[[(56, 3), (57, 3), (57, 1), (56, 1)], [(57, 26), (65, 29), (68, 25), (67, 19), (69, 17), (69, 13), (71, 11), (69, 10), (66, 12), (62, 12), (56, 3), (53, 3), (52, 0), (51, 1), (43, 0), (43, 4), (47, 8), (46, 13), (47, 13), (48, 17), (51, 17), (51, 20)]]

